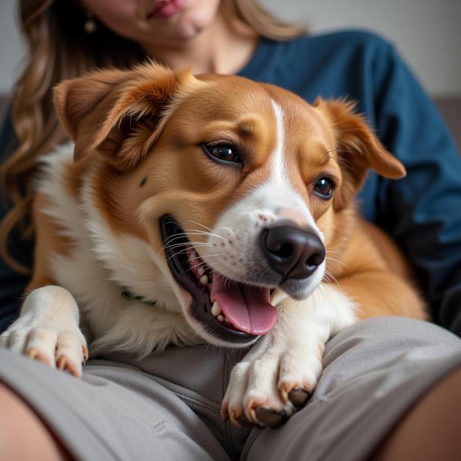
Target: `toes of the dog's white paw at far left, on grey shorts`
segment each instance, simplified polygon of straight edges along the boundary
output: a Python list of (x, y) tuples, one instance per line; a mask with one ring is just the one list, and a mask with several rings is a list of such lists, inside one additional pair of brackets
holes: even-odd
[(49, 323), (33, 325), (19, 318), (0, 335), (0, 347), (23, 353), (53, 368), (81, 376), (88, 359), (87, 342), (78, 327)]

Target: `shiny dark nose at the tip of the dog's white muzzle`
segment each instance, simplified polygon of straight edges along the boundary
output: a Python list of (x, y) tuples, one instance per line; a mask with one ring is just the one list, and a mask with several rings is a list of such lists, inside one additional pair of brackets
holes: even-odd
[(261, 246), (270, 267), (283, 279), (309, 277), (325, 259), (325, 247), (319, 237), (291, 225), (264, 229)]

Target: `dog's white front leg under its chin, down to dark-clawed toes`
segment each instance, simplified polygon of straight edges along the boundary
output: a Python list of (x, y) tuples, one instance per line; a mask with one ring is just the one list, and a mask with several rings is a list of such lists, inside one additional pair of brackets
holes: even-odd
[(326, 341), (355, 321), (355, 304), (329, 284), (304, 301), (277, 305), (273, 331), (260, 338), (231, 372), (221, 413), (237, 426), (275, 427), (302, 407), (322, 371)]

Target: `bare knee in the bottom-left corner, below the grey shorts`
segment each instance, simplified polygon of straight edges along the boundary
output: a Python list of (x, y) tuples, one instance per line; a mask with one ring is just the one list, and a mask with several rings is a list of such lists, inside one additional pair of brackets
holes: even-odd
[(2, 459), (70, 459), (32, 409), (0, 383)]

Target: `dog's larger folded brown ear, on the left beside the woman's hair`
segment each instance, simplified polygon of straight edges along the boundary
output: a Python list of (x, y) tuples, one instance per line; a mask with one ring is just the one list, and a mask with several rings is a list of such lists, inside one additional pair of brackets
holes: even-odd
[(62, 81), (54, 89), (54, 104), (75, 143), (74, 161), (98, 149), (118, 169), (135, 166), (166, 122), (166, 106), (194, 83), (198, 80), (188, 70), (173, 72), (153, 63)]

